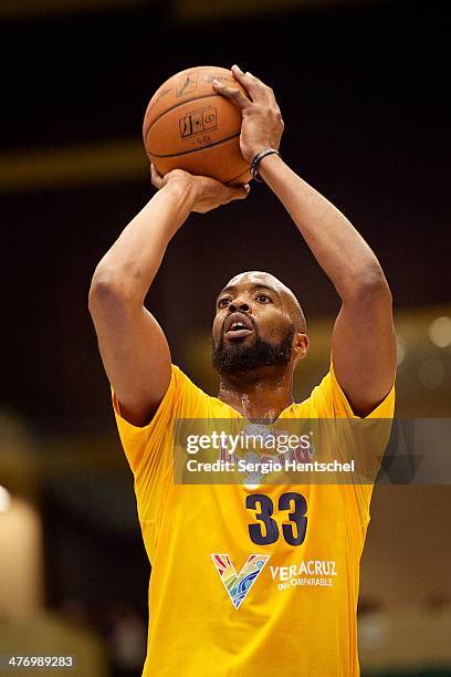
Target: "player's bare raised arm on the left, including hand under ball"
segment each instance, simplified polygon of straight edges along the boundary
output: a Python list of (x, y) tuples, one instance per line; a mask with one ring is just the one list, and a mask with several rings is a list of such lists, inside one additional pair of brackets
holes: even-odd
[(153, 168), (160, 190), (130, 221), (98, 263), (91, 283), (90, 312), (103, 364), (132, 424), (147, 424), (170, 382), (170, 352), (144, 299), (161, 264), (166, 247), (191, 211), (206, 212), (248, 189), (223, 186), (176, 169), (162, 178)]

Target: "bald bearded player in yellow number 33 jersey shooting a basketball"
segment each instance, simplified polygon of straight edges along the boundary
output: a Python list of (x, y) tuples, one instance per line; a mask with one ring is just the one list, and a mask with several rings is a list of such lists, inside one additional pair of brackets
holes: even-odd
[[(279, 149), (283, 122), (269, 86), (237, 66), (233, 74), (248, 95), (214, 86), (242, 112), (241, 150), (251, 164), (262, 150)], [(308, 347), (304, 315), (273, 275), (240, 273), (219, 292), (217, 397), (171, 364), (166, 336), (143, 305), (189, 213), (245, 198), (249, 187), (153, 169), (159, 190), (92, 281), (90, 309), (153, 566), (145, 676), (359, 674), (356, 605), (371, 486), (174, 482), (176, 418), (270, 423), (394, 414), (391, 295), (378, 260), (276, 153), (256, 170), (342, 300), (329, 372), (305, 402), (292, 395), (294, 369)]]

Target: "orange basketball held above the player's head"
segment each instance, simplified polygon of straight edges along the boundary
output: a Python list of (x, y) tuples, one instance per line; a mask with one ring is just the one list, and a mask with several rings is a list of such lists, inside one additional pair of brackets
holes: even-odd
[(213, 80), (243, 90), (228, 69), (198, 66), (172, 75), (155, 92), (143, 124), (146, 153), (161, 175), (185, 169), (245, 184), (251, 174), (240, 150), (241, 112), (214, 91)]

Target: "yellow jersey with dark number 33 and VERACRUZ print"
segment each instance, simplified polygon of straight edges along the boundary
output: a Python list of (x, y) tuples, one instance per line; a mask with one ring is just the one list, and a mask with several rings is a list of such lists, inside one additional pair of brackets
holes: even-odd
[[(177, 483), (174, 421), (243, 417), (175, 365), (147, 426), (127, 423), (114, 393), (113, 404), (151, 564), (143, 676), (358, 676), (373, 485)], [(392, 388), (369, 418), (391, 418), (394, 406)], [(285, 418), (357, 417), (331, 365)]]

